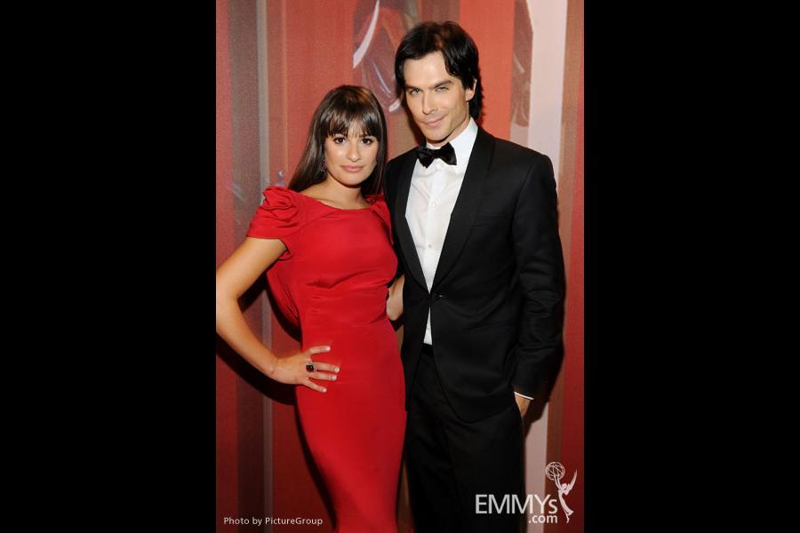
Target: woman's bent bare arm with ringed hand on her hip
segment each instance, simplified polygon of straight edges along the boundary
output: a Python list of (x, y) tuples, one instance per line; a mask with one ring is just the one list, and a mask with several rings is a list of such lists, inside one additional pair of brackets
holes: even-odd
[(261, 274), (276, 262), (286, 247), (278, 239), (255, 239), (247, 237), (236, 251), (217, 269), (217, 333), (230, 347), (269, 378), (296, 385), (308, 386), (325, 392), (324, 386), (311, 379), (333, 381), (339, 368), (324, 362), (315, 362), (317, 371), (308, 372), (306, 363), (311, 355), (327, 352), (330, 346), (312, 346), (291, 357), (277, 357), (253, 334), (239, 307), (239, 298)]

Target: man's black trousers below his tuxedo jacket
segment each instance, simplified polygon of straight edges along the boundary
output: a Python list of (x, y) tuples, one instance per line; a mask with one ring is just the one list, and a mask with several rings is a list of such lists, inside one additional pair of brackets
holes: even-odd
[(498, 512), (507, 495), (524, 502), (523, 422), (516, 402), (490, 418), (462, 421), (444, 396), (433, 351), (423, 346), (405, 430), (414, 531), (517, 533), (524, 513), (508, 506)]

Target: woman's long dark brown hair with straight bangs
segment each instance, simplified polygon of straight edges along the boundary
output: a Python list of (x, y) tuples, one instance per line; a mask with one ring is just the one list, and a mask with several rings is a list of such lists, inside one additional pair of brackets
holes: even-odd
[(370, 177), (361, 184), (362, 195), (383, 193), (383, 167), (386, 164), (386, 118), (372, 91), (357, 85), (340, 85), (328, 92), (314, 112), (303, 156), (288, 188), (300, 192), (327, 178), (323, 171), (325, 139), (340, 133), (348, 135), (353, 123), (362, 125), (363, 135), (378, 139), (378, 161)]

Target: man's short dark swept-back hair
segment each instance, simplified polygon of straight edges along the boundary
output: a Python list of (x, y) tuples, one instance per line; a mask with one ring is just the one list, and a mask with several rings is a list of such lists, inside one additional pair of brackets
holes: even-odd
[(431, 52), (442, 52), (444, 68), (450, 76), (457, 77), (464, 89), (472, 89), (476, 82), (475, 96), (469, 100), (469, 115), (478, 118), (484, 100), (484, 86), (478, 69), (478, 53), (475, 41), (458, 24), (446, 22), (420, 22), (400, 41), (395, 54), (395, 78), (399, 95), (405, 91), (403, 63), (419, 60)]

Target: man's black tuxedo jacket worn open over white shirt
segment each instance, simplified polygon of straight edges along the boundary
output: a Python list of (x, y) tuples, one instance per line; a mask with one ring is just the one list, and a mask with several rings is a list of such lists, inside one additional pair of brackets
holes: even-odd
[(385, 177), (400, 273), (401, 349), (411, 396), (430, 310), (436, 369), (465, 421), (547, 396), (562, 358), (564, 259), (556, 181), (547, 155), (478, 129), (444, 238), (433, 286), (405, 219), (416, 155), (388, 162)]

